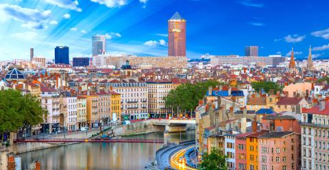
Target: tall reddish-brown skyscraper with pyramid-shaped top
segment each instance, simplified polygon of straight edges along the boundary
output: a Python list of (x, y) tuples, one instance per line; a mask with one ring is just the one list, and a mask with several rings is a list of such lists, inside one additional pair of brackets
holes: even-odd
[(178, 12), (168, 20), (168, 56), (186, 56), (186, 20)]

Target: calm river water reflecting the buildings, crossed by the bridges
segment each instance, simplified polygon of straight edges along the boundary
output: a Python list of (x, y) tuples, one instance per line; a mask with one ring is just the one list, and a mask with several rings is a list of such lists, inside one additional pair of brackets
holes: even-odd
[[(153, 133), (127, 138), (163, 138)], [(170, 142), (193, 140), (195, 131), (171, 133)], [(40, 169), (145, 169), (154, 160), (154, 153), (162, 144), (154, 143), (79, 143), (21, 154), (22, 168), (33, 160), (41, 163)]]

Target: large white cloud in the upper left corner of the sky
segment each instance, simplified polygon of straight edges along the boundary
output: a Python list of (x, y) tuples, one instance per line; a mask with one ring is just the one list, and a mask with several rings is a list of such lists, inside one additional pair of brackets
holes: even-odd
[(28, 29), (43, 29), (43, 25), (51, 14), (51, 10), (37, 10), (31, 8), (22, 8), (19, 5), (0, 4), (0, 20), (7, 21), (14, 19), (22, 22), (22, 27)]

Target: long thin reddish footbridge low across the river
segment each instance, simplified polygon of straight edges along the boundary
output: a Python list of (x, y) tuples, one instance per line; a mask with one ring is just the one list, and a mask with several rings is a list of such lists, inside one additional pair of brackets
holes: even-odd
[(14, 143), (163, 143), (162, 139), (144, 138), (110, 138), (110, 139), (87, 139), (87, 138), (31, 138), (16, 139)]

